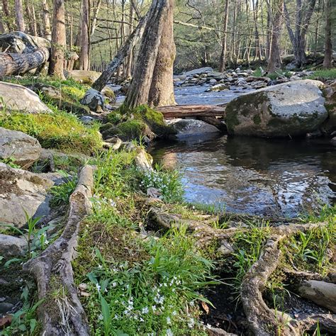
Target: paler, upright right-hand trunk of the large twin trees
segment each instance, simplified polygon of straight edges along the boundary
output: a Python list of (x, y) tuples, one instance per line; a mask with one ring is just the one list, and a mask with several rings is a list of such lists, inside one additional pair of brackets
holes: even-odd
[(150, 106), (176, 104), (173, 83), (173, 66), (176, 56), (173, 23), (174, 0), (169, 0), (148, 97), (148, 104)]

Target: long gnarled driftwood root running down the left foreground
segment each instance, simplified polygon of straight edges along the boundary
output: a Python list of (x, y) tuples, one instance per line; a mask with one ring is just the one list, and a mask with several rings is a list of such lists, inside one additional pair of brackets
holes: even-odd
[(82, 304), (74, 286), (71, 261), (77, 246), (79, 224), (91, 211), (94, 167), (85, 166), (76, 189), (69, 198), (69, 215), (62, 235), (23, 269), (33, 274), (38, 284), (41, 335), (89, 335)]

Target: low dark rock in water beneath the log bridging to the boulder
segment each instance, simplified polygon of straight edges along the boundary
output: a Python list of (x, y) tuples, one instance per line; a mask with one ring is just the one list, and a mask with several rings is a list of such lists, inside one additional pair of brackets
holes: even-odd
[(194, 119), (172, 119), (169, 121), (169, 125), (177, 131), (177, 138), (219, 132), (215, 126)]

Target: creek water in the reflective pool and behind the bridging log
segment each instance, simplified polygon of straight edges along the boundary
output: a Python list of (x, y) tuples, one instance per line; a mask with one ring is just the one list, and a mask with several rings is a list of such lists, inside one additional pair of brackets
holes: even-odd
[[(180, 104), (230, 101), (238, 91), (176, 89)], [(212, 135), (155, 142), (155, 162), (183, 172), (184, 196), (234, 213), (295, 217), (336, 203), (336, 148), (328, 140)]]

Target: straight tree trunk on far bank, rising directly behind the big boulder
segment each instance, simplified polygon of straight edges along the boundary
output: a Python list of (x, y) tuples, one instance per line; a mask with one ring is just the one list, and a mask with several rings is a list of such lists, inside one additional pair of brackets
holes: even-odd
[(267, 72), (275, 72), (281, 67), (279, 43), (281, 37), (282, 16), (284, 13), (284, 0), (277, 0), (274, 4), (273, 24), (271, 25), (271, 48), (269, 49), (269, 62)]

